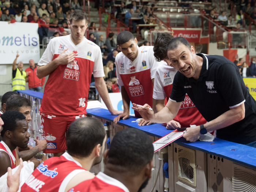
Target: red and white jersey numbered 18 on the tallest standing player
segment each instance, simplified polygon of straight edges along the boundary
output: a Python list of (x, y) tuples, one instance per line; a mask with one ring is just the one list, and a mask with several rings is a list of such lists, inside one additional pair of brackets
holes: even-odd
[(46, 65), (68, 48), (65, 53), (74, 52), (75, 60), (67, 65), (59, 65), (45, 84), (40, 112), (59, 119), (73, 121), (76, 116), (86, 115), (87, 100), (94, 77), (103, 77), (101, 49), (84, 37), (74, 45), (70, 35), (54, 37), (50, 40), (38, 65)]

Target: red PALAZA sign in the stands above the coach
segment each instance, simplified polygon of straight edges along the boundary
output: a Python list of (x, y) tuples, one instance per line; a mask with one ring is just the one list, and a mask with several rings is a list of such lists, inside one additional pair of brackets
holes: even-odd
[(184, 37), (188, 42), (199, 43), (202, 30), (173, 30), (173, 37)]

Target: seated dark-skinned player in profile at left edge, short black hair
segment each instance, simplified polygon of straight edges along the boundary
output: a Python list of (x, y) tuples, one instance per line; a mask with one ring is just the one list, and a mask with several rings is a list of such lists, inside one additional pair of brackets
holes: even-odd
[(16, 167), (15, 148), (26, 148), (30, 137), (27, 132), (29, 125), (22, 113), (7, 111), (1, 115), (1, 119), (4, 125), (1, 131), (3, 140), (0, 142), (0, 177), (7, 172), (8, 167)]

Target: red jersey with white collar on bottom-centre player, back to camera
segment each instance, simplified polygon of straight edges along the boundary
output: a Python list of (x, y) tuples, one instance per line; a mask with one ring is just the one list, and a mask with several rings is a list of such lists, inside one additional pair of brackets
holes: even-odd
[(68, 192), (129, 192), (120, 181), (99, 172), (96, 177), (80, 182)]

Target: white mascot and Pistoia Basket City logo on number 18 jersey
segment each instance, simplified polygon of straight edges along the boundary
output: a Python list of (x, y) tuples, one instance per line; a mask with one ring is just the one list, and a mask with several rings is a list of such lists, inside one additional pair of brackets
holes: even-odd
[(64, 72), (64, 79), (71, 79), (71, 80), (79, 80), (79, 65), (77, 64), (78, 61), (71, 61), (69, 64), (67, 64), (67, 67), (65, 68)]

